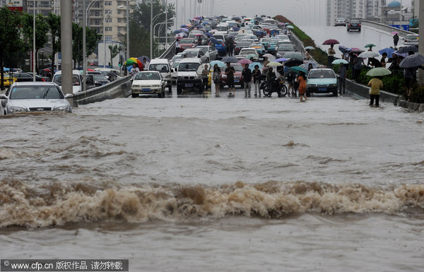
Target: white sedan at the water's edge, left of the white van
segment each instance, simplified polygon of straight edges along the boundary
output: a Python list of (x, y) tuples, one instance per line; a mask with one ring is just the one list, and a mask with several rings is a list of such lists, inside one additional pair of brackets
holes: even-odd
[(131, 96), (154, 95), (165, 97), (166, 81), (158, 71), (141, 71), (136, 73), (131, 84)]

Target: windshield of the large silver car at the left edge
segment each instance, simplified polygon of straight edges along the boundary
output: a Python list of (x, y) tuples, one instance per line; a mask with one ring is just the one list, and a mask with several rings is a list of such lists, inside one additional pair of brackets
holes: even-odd
[(25, 85), (15, 86), (11, 90), (9, 99), (63, 99), (64, 95), (56, 86)]

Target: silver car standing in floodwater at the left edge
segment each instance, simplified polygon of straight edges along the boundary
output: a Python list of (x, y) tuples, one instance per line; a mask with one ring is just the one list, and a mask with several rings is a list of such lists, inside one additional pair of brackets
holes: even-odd
[(16, 82), (5, 95), (0, 95), (0, 100), (5, 115), (20, 112), (72, 112), (66, 97), (56, 83)]

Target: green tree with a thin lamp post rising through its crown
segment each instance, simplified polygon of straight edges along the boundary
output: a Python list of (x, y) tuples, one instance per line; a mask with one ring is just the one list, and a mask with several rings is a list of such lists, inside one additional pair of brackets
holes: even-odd
[[(23, 40), (26, 50), (33, 50), (33, 22), (34, 16), (28, 13), (22, 13)], [(45, 16), (38, 14), (35, 16), (35, 56), (38, 56), (38, 50), (45, 47), (47, 43), (47, 32), (49, 24)], [(32, 68), (32, 67), (31, 67)], [(38, 61), (35, 59), (35, 71), (38, 71)]]

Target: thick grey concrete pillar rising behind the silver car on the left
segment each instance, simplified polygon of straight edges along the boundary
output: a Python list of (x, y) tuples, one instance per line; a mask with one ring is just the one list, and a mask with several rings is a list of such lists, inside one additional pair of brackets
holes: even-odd
[(61, 88), (72, 93), (72, 1), (61, 0)]

